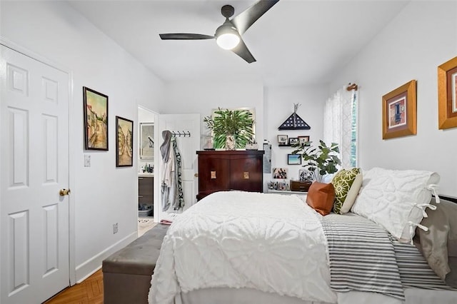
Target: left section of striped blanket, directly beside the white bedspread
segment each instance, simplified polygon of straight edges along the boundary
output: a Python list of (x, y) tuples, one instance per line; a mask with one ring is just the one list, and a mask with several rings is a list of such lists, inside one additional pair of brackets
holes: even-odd
[(334, 291), (367, 291), (405, 299), (395, 250), (386, 230), (355, 214), (329, 214), (322, 218), (322, 226)]

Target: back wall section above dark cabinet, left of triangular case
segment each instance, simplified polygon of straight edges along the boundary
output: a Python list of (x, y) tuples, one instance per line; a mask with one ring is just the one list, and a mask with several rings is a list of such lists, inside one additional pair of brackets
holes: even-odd
[(201, 148), (209, 134), (203, 118), (216, 108), (255, 108), (256, 141), (263, 141), (263, 86), (246, 82), (175, 82), (166, 84), (163, 113), (199, 113), (201, 116)]

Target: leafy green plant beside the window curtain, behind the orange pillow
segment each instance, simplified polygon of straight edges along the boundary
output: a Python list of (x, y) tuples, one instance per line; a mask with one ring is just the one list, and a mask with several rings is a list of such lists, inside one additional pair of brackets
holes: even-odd
[(322, 181), (322, 178), (327, 174), (336, 173), (338, 168), (336, 166), (341, 165), (341, 161), (338, 158), (339, 148), (338, 143), (331, 143), (327, 146), (323, 141), (319, 141), (317, 147), (311, 146), (312, 141), (305, 143), (298, 143), (297, 149), (292, 151), (293, 154), (301, 154), (305, 165), (314, 175), (315, 181)]

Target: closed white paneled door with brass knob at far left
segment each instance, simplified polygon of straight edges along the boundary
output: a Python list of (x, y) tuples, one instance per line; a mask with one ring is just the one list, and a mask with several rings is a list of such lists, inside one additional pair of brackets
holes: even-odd
[(0, 303), (41, 303), (69, 285), (69, 75), (0, 47)]

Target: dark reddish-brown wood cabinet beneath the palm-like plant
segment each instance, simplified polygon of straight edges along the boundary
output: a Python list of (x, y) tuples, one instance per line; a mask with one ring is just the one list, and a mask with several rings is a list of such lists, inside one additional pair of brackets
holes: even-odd
[(257, 150), (197, 151), (197, 200), (216, 191), (263, 192), (263, 153)]

